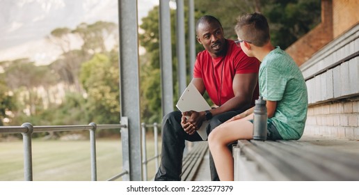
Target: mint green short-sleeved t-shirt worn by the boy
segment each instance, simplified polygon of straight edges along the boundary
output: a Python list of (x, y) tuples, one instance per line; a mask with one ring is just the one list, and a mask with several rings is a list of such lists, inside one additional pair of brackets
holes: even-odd
[(300, 139), (307, 119), (307, 86), (298, 65), (285, 51), (276, 47), (260, 65), (260, 95), (277, 101), (270, 118), (283, 139)]

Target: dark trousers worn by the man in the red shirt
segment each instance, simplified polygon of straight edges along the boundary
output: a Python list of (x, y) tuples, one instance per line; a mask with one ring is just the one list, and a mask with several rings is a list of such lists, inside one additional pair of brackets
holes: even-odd
[[(214, 116), (207, 126), (209, 134), (215, 127), (221, 125), (226, 120), (240, 114), (242, 111), (228, 111)], [(173, 111), (163, 117), (162, 121), (162, 151), (161, 165), (157, 171), (154, 180), (156, 181), (179, 181), (182, 173), (182, 157), (187, 141), (202, 141), (200, 135), (186, 134), (181, 125), (182, 114), (180, 111)], [(211, 180), (218, 181), (218, 174), (212, 155), (209, 153), (209, 169), (211, 171)]]

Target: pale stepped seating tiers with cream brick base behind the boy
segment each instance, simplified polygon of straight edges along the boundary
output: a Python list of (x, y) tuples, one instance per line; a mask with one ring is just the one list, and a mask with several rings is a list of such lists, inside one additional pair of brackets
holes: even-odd
[(308, 88), (304, 135), (359, 140), (359, 24), (299, 68)]

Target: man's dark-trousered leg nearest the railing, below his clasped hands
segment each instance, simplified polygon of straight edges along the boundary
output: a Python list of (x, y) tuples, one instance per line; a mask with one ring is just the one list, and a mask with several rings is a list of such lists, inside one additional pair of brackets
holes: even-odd
[(163, 118), (161, 164), (156, 181), (181, 180), (184, 141), (202, 141), (197, 133), (190, 136), (184, 132), (181, 117), (180, 111), (173, 111)]

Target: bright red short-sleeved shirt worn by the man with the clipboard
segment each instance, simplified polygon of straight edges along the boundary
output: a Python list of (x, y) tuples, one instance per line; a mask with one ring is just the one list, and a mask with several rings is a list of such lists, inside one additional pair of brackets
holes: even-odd
[[(207, 50), (198, 53), (193, 77), (201, 78), (209, 98), (214, 104), (221, 105), (234, 97), (232, 84), (235, 74), (258, 73), (259, 68), (260, 61), (248, 57), (233, 40), (228, 40), (228, 51), (225, 56), (212, 59)], [(258, 96), (257, 86), (253, 93), (253, 104)]]

